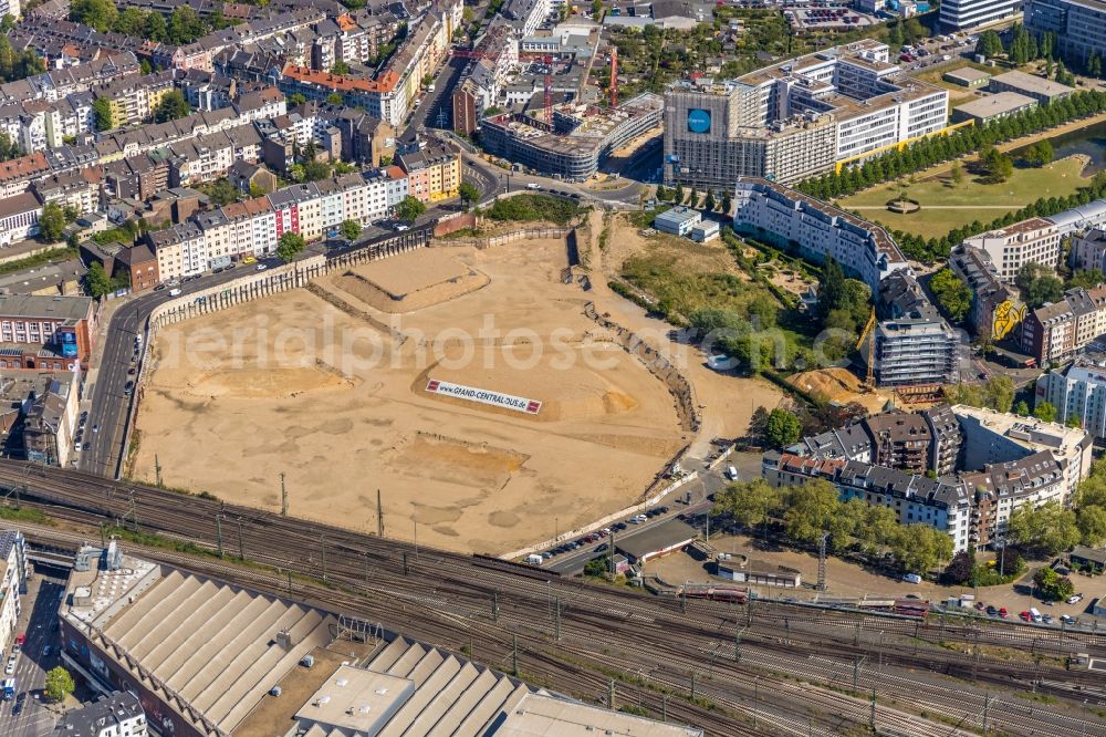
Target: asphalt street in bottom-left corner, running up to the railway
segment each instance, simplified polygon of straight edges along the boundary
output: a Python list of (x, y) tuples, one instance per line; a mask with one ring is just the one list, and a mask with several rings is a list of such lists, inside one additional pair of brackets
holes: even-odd
[[(27, 642), (15, 665), (14, 677), (17, 698), (23, 694), (23, 699), (19, 714), (13, 713), (17, 702), (0, 702), (0, 735), (4, 737), (43, 737), (53, 731), (56, 722), (56, 716), (45, 708), (41, 698), (46, 671), (60, 663), (58, 633), (53, 626), (58, 621), (58, 596), (65, 590), (65, 578), (62, 572), (54, 573), (52, 569), (43, 571), (29, 585), (28, 595), (22, 600), (19, 632), (27, 633)], [(46, 645), (50, 645), (51, 654), (43, 656)]]

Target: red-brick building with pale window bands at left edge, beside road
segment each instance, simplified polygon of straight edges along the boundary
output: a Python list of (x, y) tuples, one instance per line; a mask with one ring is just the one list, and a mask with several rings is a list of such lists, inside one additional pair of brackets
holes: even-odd
[(0, 343), (10, 350), (0, 369), (79, 371), (92, 355), (95, 324), (87, 297), (2, 294)]

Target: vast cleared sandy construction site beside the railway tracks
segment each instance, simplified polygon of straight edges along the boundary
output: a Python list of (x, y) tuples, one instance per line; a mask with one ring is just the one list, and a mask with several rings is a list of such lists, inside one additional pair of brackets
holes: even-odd
[[(665, 386), (560, 283), (565, 263), (563, 241), (434, 248), (322, 280), (325, 300), (296, 290), (169, 326), (134, 474), (153, 479), (156, 457), (167, 485), (279, 509), (285, 473), (291, 515), (369, 531), (380, 489), (385, 534), (411, 539), (417, 522), (420, 542), (455, 550), (503, 552), (624, 508), (686, 440)], [(490, 282), (442, 288), (471, 272)], [(366, 301), (346, 291), (358, 277), (378, 286)], [(374, 310), (393, 290), (426, 305)], [(408, 338), (396, 346), (365, 314)], [(545, 404), (534, 417), (445, 398), (428, 378)]]

